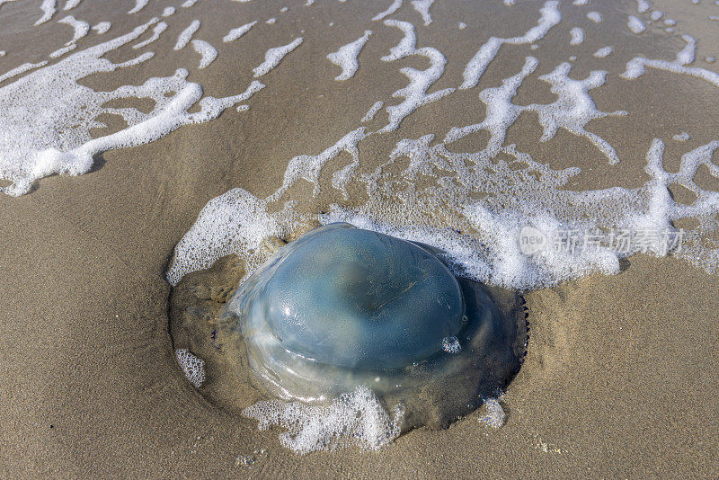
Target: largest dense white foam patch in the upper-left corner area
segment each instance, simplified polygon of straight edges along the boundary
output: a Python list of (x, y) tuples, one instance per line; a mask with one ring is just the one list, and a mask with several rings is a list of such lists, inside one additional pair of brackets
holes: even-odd
[[(262, 88), (262, 84), (253, 82), (238, 95), (202, 97), (200, 84), (188, 82), (188, 72), (182, 68), (174, 76), (149, 78), (144, 84), (124, 85), (110, 92), (95, 92), (77, 83), (85, 76), (132, 67), (152, 58), (152, 52), (122, 63), (102, 58), (105, 53), (138, 39), (152, 23), (78, 51), (0, 88), (0, 110), (4, 112), (0, 117), (0, 130), (4, 132), (0, 136), (0, 178), (13, 182), (0, 191), (21, 195), (30, 190), (32, 182), (44, 176), (86, 173), (98, 153), (146, 144), (182, 125), (213, 120), (224, 109)], [(32, 67), (39, 66), (23, 68)], [(145, 113), (134, 108), (103, 106), (113, 99), (129, 97), (148, 98), (155, 102), (155, 107)], [(197, 102), (200, 110), (189, 113)], [(38, 112), (42, 121), (37, 121)], [(120, 115), (127, 128), (93, 138), (90, 130), (104, 127), (97, 120), (103, 113)]]

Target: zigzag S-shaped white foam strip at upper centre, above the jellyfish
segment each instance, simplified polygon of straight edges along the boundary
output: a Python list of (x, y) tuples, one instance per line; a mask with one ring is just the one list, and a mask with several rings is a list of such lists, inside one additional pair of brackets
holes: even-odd
[(447, 59), (438, 50), (431, 47), (423, 47), (416, 49), (416, 36), (414, 35), (414, 26), (409, 22), (400, 22), (398, 20), (386, 20), (387, 26), (396, 27), (404, 32), (404, 37), (400, 42), (390, 49), (389, 55), (382, 57), (383, 61), (394, 61), (401, 58), (417, 55), (429, 58), (430, 67), (426, 70), (416, 70), (412, 67), (404, 67), (400, 69), (400, 73), (406, 76), (410, 83), (392, 93), (392, 96), (404, 98), (404, 102), (398, 105), (386, 107), (389, 115), (389, 123), (380, 129), (380, 132), (394, 131), (399, 124), (413, 111), (430, 102), (436, 102), (440, 98), (454, 92), (454, 88), (445, 88), (434, 93), (427, 93), (427, 90), (436, 82), (444, 73), (444, 67)]

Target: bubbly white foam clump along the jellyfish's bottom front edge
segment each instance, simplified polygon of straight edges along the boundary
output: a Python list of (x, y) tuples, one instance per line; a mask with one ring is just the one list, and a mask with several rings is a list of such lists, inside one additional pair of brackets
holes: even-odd
[(261, 430), (280, 425), (280, 443), (300, 454), (352, 446), (376, 450), (400, 434), (404, 408), (387, 413), (371, 390), (357, 387), (328, 405), (270, 400), (254, 404), (244, 415), (259, 422)]

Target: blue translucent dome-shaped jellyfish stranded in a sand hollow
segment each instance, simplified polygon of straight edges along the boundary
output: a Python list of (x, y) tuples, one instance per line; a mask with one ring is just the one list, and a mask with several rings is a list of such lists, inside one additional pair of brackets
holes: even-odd
[(406, 430), (447, 426), (507, 385), (525, 352), (522, 304), (457, 278), (428, 245), (335, 223), (274, 253), (219, 324), (271, 396), (321, 403), (369, 387), (404, 404)]

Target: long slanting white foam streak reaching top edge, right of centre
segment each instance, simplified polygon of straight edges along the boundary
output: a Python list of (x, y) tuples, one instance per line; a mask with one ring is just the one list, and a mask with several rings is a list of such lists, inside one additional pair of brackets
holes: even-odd
[(465, 80), (459, 88), (464, 90), (472, 88), (479, 83), (479, 79), (484, 74), (484, 70), (497, 56), (503, 44), (523, 45), (534, 43), (544, 38), (552, 27), (562, 21), (562, 15), (559, 13), (559, 2), (546, 2), (539, 12), (541, 16), (539, 17), (537, 25), (529, 29), (524, 35), (509, 39), (491, 37), (487, 40), (486, 43), (477, 50), (475, 56), (466, 64), (463, 74)]

